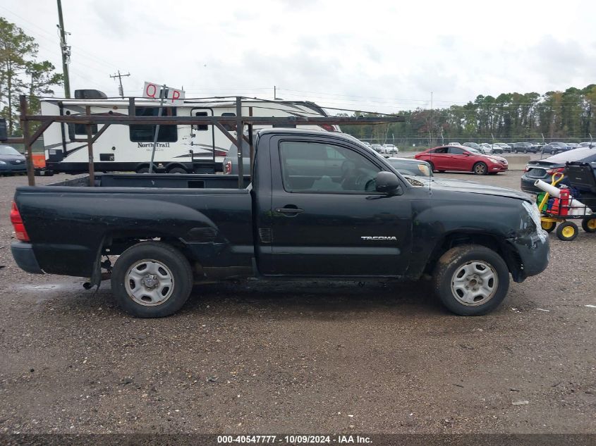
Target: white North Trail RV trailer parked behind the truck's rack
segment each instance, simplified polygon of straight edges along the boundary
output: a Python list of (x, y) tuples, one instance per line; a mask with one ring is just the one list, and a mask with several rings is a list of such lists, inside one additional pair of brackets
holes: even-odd
[[(128, 99), (108, 99), (97, 90), (77, 90), (75, 97), (87, 99), (41, 100), (42, 116), (82, 116), (86, 107), (99, 116), (128, 116)], [(90, 99), (90, 98), (98, 99)], [(242, 114), (263, 117), (327, 116), (312, 102), (267, 101), (243, 99)], [(159, 102), (135, 99), (136, 116), (157, 116)], [(236, 101), (225, 99), (188, 99), (181, 106), (164, 106), (162, 116), (236, 116)], [(103, 125), (93, 125), (95, 135)], [(225, 126), (225, 125), (224, 125)], [(93, 143), (95, 171), (149, 171), (155, 125), (110, 125)], [(270, 125), (255, 125), (259, 128)], [(288, 127), (288, 125), (284, 125)], [(336, 125), (305, 125), (305, 128), (340, 131)], [(230, 126), (236, 135), (236, 125)], [(89, 168), (87, 126), (53, 123), (44, 132), (46, 168), (53, 172), (83, 173)], [(221, 171), (221, 163), (230, 147), (230, 140), (215, 125), (161, 125), (157, 138), (154, 166), (156, 172), (213, 173)]]

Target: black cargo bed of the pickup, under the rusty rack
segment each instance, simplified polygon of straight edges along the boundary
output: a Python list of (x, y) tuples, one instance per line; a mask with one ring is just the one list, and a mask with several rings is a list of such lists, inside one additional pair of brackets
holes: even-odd
[(119, 254), (131, 237), (172, 240), (204, 268), (251, 268), (252, 197), (250, 187), (238, 189), (238, 176), (99, 174), (96, 187), (88, 181), (87, 176), (16, 190), (45, 273), (90, 277), (99, 247)]

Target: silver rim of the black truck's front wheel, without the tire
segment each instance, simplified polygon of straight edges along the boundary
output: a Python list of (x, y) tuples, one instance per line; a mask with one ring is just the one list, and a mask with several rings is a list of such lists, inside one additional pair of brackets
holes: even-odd
[(468, 261), (451, 277), (451, 292), (466, 306), (486, 304), (497, 294), (499, 278), (494, 267), (482, 260)]

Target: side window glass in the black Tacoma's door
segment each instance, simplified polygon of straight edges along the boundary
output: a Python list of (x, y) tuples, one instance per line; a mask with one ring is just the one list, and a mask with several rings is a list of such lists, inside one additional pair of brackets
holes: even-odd
[(319, 142), (281, 142), (279, 158), (287, 192), (374, 192), (381, 170), (351, 149)]

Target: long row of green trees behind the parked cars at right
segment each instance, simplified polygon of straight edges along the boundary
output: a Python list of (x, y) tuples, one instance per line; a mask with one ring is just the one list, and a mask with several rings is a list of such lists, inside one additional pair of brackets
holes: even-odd
[[(434, 145), (447, 142), (523, 142), (596, 137), (596, 84), (564, 92), (479, 95), (466, 105), (398, 111), (403, 123), (342, 125), (360, 140)], [(343, 115), (347, 116), (347, 115)], [(354, 116), (379, 116), (355, 112)]]

